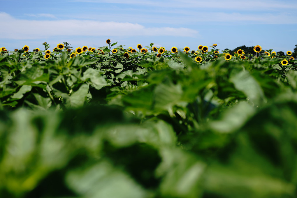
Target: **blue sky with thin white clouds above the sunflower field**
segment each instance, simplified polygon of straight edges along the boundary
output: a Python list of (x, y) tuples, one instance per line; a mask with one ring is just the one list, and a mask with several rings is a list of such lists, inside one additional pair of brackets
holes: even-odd
[[(12, 51), (137, 44), (170, 50), (217, 44), (293, 51), (297, 44), (296, 0), (0, 0), (0, 47)], [(116, 45), (116, 46), (117, 46)]]

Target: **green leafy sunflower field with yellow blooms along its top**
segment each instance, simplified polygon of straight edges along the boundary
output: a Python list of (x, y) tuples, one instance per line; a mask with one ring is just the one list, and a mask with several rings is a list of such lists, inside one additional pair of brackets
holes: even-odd
[(0, 197), (297, 197), (297, 64), (254, 47), (0, 48)]

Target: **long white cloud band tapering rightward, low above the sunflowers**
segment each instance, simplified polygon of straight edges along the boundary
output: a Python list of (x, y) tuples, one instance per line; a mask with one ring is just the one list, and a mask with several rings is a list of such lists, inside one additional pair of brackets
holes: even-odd
[(97, 20), (20, 20), (0, 12), (2, 38), (40, 39), (52, 36), (187, 36), (197, 37), (190, 28), (147, 28), (137, 23)]

